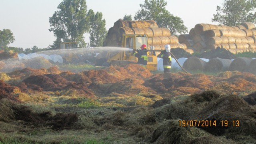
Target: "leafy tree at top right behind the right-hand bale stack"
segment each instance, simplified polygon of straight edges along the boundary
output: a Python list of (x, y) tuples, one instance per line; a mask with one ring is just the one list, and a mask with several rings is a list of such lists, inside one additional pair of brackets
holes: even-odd
[(256, 0), (225, 0), (217, 6), (212, 22), (226, 26), (237, 26), (243, 22), (256, 22)]

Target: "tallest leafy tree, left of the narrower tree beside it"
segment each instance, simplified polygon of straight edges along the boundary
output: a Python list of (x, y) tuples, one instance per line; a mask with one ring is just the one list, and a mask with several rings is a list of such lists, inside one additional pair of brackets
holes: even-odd
[[(54, 33), (56, 42), (77, 42), (78, 47), (85, 47), (83, 34), (90, 29), (90, 15), (87, 14), (85, 0), (63, 0), (58, 11), (49, 18), (50, 32)], [(59, 48), (60, 44), (54, 44)]]

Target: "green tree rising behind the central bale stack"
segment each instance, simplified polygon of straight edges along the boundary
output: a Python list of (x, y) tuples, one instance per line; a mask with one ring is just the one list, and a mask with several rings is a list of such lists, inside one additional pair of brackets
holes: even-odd
[(135, 20), (154, 20), (159, 27), (168, 28), (172, 34), (184, 34), (188, 32), (188, 28), (184, 26), (183, 20), (177, 16), (170, 14), (165, 9), (167, 2), (164, 0), (144, 0), (144, 4), (140, 4), (134, 16)]

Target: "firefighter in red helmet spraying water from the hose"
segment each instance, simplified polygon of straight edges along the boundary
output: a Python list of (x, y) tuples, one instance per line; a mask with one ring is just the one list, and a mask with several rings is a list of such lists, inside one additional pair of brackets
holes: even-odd
[(147, 67), (148, 64), (148, 53), (147, 53), (147, 46), (145, 44), (142, 44), (140, 46), (141, 50), (133, 49), (133, 55), (138, 58), (137, 64), (143, 66), (144, 68)]

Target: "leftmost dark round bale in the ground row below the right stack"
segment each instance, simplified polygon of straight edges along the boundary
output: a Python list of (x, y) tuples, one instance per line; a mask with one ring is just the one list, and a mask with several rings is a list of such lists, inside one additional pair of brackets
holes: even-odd
[(187, 71), (204, 71), (205, 66), (206, 62), (204, 60), (197, 57), (190, 57), (184, 62), (182, 67)]

